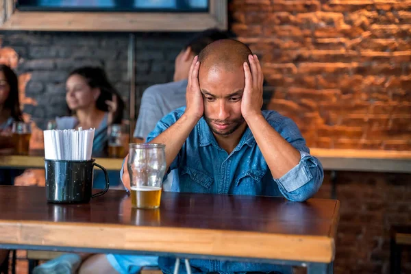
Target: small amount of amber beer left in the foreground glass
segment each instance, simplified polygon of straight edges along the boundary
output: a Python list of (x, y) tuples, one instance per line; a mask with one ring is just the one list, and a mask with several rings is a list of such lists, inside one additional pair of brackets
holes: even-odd
[(132, 186), (133, 208), (159, 208), (161, 188), (156, 186)]

